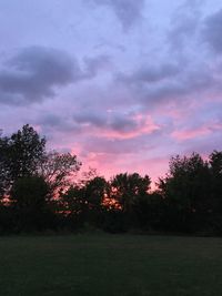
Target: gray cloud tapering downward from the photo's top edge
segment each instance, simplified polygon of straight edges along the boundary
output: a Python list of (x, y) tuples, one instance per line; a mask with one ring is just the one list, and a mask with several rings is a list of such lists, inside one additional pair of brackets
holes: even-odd
[(113, 9), (124, 29), (134, 24), (141, 18), (144, 0), (92, 0), (100, 6)]

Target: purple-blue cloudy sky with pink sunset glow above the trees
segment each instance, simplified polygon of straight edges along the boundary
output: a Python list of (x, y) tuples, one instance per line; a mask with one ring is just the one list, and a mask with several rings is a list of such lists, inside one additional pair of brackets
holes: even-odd
[(219, 0), (0, 0), (0, 129), (105, 177), (222, 150)]

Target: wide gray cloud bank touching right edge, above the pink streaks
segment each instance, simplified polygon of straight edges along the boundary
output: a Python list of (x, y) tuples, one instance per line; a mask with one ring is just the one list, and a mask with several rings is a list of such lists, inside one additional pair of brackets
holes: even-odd
[[(153, 108), (180, 101), (180, 106), (189, 100), (200, 100), (204, 94), (216, 94), (221, 91), (220, 73), (212, 73), (210, 65), (162, 64), (148, 68), (145, 64), (131, 74), (120, 73), (115, 76), (119, 88), (128, 88), (134, 103), (141, 108)], [(193, 98), (194, 96), (194, 98)]]

